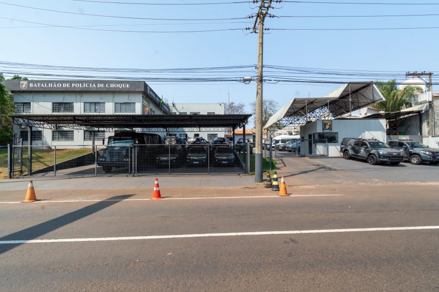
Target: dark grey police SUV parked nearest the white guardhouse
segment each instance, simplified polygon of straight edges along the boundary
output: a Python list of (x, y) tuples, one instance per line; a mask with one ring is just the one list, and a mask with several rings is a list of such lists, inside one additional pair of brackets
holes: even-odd
[(402, 161), (400, 150), (390, 148), (377, 139), (351, 139), (341, 151), (344, 159), (364, 159), (372, 165), (385, 162), (397, 165)]

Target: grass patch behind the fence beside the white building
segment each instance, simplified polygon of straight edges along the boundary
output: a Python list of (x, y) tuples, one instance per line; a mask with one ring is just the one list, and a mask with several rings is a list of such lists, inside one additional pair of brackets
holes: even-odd
[[(91, 148), (57, 149), (57, 164), (91, 152), (92, 152)], [(19, 162), (17, 161), (17, 159), (18, 159), (17, 156), (15, 156), (16, 169), (19, 167)], [(28, 159), (27, 148), (23, 148), (23, 152), (22, 152), (23, 173), (28, 172), (27, 159)], [(0, 149), (0, 177), (1, 178), (7, 178), (7, 171), (8, 171), (7, 160), (8, 160), (7, 149)], [(54, 149), (35, 148), (32, 150), (33, 171), (42, 169), (47, 166), (52, 166), (53, 164), (54, 164)], [(18, 174), (18, 172), (16, 172), (15, 174)]]

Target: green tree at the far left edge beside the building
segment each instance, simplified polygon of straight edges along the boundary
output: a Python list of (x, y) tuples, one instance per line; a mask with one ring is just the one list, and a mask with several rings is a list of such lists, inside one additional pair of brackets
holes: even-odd
[(14, 113), (12, 94), (3, 85), (3, 73), (0, 73), (0, 145), (12, 143), (12, 119), (8, 117)]

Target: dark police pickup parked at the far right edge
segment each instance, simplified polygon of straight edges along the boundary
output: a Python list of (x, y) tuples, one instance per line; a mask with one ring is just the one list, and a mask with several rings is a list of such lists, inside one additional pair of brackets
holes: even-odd
[(392, 148), (401, 150), (402, 159), (408, 160), (411, 164), (421, 164), (424, 161), (431, 164), (439, 163), (439, 149), (431, 148), (413, 141), (413, 139), (404, 137), (401, 140), (390, 140), (387, 144)]

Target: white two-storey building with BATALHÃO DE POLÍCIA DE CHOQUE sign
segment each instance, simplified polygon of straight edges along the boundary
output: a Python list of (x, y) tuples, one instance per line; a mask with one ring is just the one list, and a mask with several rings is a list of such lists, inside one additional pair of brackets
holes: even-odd
[[(109, 80), (9, 80), (6, 89), (14, 95), (15, 114), (36, 115), (135, 115), (170, 113), (143, 81)], [(14, 136), (27, 145), (28, 128), (14, 126)], [(95, 129), (95, 140), (114, 132)], [(92, 145), (92, 131), (72, 128), (32, 128), (33, 145)]]

